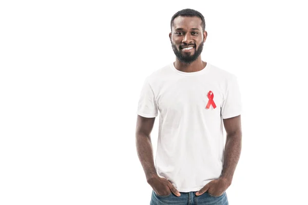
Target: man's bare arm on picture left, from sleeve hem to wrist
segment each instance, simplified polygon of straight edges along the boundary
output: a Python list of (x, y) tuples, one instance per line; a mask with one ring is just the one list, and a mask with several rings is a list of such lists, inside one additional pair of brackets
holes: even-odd
[(136, 147), (139, 160), (148, 182), (151, 178), (157, 176), (150, 137), (154, 121), (155, 117), (147, 118), (140, 115), (137, 116)]

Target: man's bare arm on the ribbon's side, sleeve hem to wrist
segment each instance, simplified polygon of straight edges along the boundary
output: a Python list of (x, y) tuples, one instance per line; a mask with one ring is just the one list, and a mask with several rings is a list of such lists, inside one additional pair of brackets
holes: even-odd
[(224, 163), (221, 178), (231, 185), (235, 168), (240, 158), (242, 149), (241, 115), (223, 119), (227, 139), (224, 150)]

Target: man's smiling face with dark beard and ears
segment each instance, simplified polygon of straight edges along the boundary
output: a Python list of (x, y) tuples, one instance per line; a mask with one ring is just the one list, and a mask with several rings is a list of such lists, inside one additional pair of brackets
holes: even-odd
[(202, 20), (197, 16), (178, 16), (169, 33), (172, 49), (183, 63), (190, 64), (202, 52), (207, 32), (202, 32)]

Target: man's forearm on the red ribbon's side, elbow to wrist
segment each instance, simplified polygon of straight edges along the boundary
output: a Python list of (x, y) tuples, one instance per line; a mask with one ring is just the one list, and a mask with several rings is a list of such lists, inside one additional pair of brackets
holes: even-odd
[(233, 136), (227, 136), (225, 150), (224, 150), (224, 162), (221, 178), (224, 178), (231, 185), (233, 175), (240, 159), (242, 149), (242, 134), (234, 134)]

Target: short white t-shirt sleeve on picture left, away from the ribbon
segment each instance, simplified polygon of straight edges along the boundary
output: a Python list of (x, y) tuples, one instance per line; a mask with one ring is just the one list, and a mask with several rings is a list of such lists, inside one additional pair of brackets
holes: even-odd
[(155, 95), (147, 78), (141, 89), (137, 114), (143, 117), (156, 117), (158, 115)]

